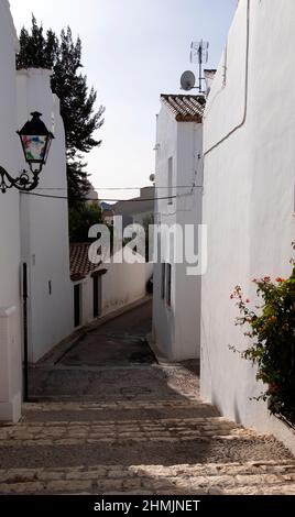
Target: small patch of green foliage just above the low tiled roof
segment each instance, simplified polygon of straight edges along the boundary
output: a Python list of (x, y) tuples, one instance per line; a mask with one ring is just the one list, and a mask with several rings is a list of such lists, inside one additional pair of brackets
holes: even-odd
[(96, 204), (79, 202), (69, 207), (70, 242), (88, 242), (88, 231), (94, 224), (102, 222), (100, 207)]

